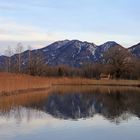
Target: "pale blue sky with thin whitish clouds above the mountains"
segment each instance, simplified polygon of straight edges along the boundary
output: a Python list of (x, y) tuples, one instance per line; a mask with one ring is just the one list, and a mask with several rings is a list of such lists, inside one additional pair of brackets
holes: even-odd
[(0, 54), (21, 42), (45, 47), (65, 39), (97, 45), (140, 42), (140, 0), (0, 0)]

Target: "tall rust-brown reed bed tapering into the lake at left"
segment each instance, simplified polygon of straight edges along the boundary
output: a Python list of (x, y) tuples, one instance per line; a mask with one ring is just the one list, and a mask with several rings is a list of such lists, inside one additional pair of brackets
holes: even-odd
[(0, 73), (0, 93), (18, 90), (48, 88), (50, 83), (46, 78), (21, 74)]

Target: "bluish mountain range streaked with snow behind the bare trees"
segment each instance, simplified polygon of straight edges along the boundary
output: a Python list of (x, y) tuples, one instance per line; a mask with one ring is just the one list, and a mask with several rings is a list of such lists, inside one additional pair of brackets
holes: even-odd
[[(32, 56), (41, 54), (43, 62), (50, 66), (68, 65), (79, 67), (86, 62), (101, 62), (103, 54), (112, 47), (121, 46), (114, 41), (108, 41), (102, 45), (82, 42), (79, 40), (63, 40), (54, 42), (44, 48), (31, 51)], [(122, 47), (122, 46), (121, 46)], [(125, 49), (125, 48), (124, 48)], [(140, 43), (127, 48), (134, 56), (140, 58)], [(28, 50), (21, 54), (22, 65), (28, 64)], [(16, 54), (11, 58), (14, 61)], [(5, 64), (6, 56), (0, 56), (0, 66)]]

